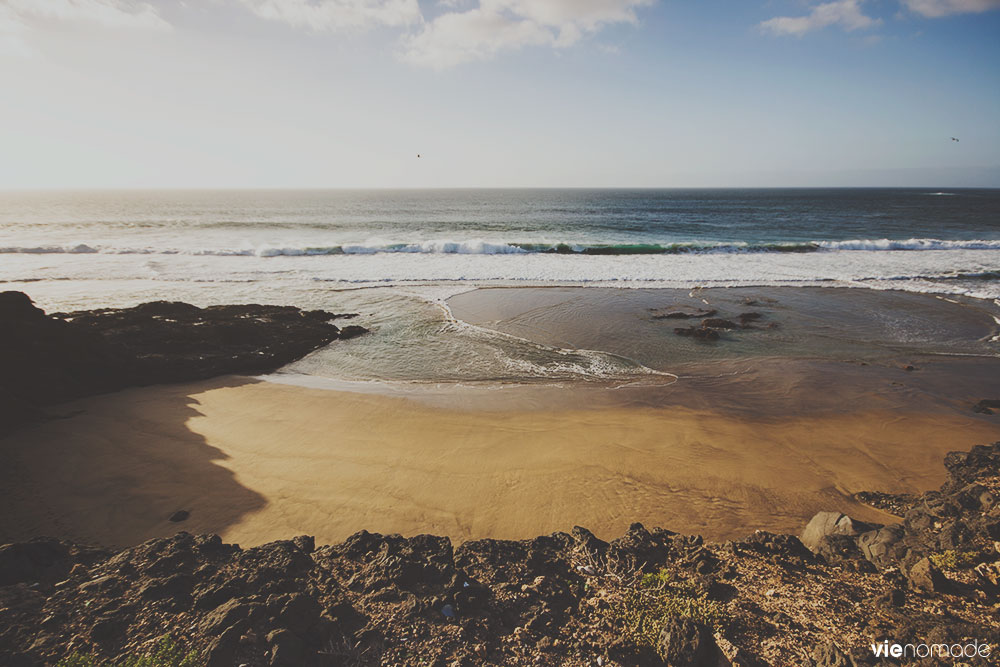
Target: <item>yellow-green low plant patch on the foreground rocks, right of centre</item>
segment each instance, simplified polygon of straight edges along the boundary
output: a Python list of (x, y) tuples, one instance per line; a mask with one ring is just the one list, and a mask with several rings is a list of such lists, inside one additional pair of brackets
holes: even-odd
[(712, 628), (722, 623), (722, 605), (668, 569), (643, 575), (623, 590), (617, 611), (625, 633), (647, 646), (656, 646), (660, 631), (671, 618), (691, 618)]

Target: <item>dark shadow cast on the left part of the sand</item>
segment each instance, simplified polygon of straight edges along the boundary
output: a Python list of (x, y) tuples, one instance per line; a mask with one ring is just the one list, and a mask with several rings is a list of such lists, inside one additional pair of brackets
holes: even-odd
[[(0, 543), (50, 536), (120, 548), (179, 530), (224, 533), (263, 508), (225, 453), (188, 428), (225, 376), (94, 396), (0, 439)], [(178, 510), (189, 516), (171, 521)]]

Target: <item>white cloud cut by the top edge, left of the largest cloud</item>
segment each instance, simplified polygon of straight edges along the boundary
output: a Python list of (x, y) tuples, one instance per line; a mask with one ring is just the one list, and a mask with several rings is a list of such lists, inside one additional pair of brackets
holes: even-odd
[(422, 18), (417, 0), (240, 0), (261, 18), (315, 32), (406, 26)]

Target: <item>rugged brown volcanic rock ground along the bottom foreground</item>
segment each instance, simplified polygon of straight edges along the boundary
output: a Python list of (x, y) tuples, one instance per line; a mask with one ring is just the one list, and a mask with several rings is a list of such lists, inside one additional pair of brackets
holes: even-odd
[(457, 548), (367, 532), (249, 549), (187, 533), (118, 553), (6, 545), (0, 664), (118, 664), (165, 635), (185, 664), (226, 667), (832, 667), (915, 662), (876, 659), (883, 640), (1000, 650), (1000, 443), (945, 466), (940, 491), (895, 501), (899, 523), (821, 513), (802, 540), (709, 544), (635, 524), (610, 543), (574, 528)]

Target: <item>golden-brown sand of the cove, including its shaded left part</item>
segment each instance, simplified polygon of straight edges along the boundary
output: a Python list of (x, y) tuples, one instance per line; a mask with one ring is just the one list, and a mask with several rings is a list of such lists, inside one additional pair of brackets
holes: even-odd
[[(514, 387), (486, 408), (461, 388), (424, 400), (231, 377), (77, 401), (0, 440), (0, 542), (124, 546), (179, 529), (244, 546), (362, 529), (464, 541), (573, 525), (613, 538), (634, 521), (798, 533), (822, 509), (890, 521), (849, 494), (934, 488), (946, 452), (1000, 439), (1000, 419), (967, 407), (755, 417), (525, 391), (531, 407)], [(179, 509), (190, 518), (169, 522)]]

